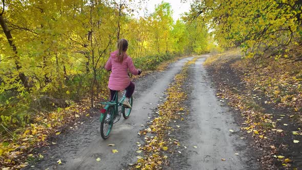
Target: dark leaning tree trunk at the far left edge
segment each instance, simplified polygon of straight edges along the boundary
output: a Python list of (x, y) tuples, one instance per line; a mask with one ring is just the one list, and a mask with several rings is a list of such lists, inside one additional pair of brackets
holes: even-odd
[[(17, 56), (17, 54), (18, 54), (17, 47), (15, 46), (15, 44), (13, 42), (12, 34), (11, 34), (10, 30), (8, 29), (8, 27), (7, 27), (6, 23), (5, 23), (5, 20), (4, 20), (4, 18), (3, 18), (2, 15), (0, 15), (0, 25), (1, 25), (2, 29), (3, 29), (3, 32), (4, 32), (7, 40), (8, 40), (9, 45), (11, 46), (11, 48), (12, 48), (14, 54), (15, 54), (15, 65), (16, 65), (17, 71), (19, 72), (19, 70), (22, 68), (22, 66), (20, 65), (20, 63), (18, 61), (19, 58)], [(25, 76), (24, 73), (20, 73), (19, 72), (19, 79), (22, 81), (23, 86), (25, 88), (27, 88), (27, 89), (30, 88), (29, 83), (28, 83), (28, 78)]]

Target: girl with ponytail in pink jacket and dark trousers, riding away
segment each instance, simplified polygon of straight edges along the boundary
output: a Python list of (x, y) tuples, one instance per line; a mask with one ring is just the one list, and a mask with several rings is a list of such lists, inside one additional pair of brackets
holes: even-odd
[(140, 75), (142, 71), (135, 68), (132, 58), (126, 54), (128, 49), (128, 41), (126, 39), (120, 39), (117, 48), (116, 51), (110, 54), (105, 65), (107, 71), (111, 70), (108, 83), (110, 100), (113, 100), (116, 91), (126, 90), (126, 99), (123, 101), (123, 106), (131, 108), (129, 98), (134, 92), (135, 85), (128, 76), (128, 70), (134, 75)]

